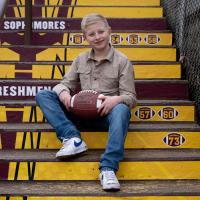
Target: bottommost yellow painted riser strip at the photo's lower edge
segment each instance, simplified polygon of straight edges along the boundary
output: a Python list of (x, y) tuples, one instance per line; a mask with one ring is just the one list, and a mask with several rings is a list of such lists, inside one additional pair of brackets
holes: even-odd
[[(1, 198), (2, 200), (6, 200), (6, 197)], [(10, 197), (9, 200), (23, 200), (23, 197)], [(28, 196), (27, 200), (41, 200), (41, 197)], [(42, 200), (200, 200), (200, 196), (42, 196)]]

